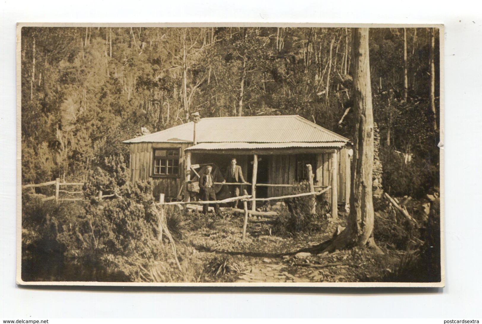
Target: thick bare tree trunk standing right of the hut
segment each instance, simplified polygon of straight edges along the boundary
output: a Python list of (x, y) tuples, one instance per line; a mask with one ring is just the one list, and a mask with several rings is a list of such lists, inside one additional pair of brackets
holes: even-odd
[[(353, 93), (356, 120), (353, 134), (353, 163), (351, 164), (350, 214), (346, 229), (324, 249), (365, 246), (373, 234), (374, 210), (372, 175), (374, 156), (374, 124), (368, 28), (353, 28)], [(373, 239), (370, 240), (371, 243)]]

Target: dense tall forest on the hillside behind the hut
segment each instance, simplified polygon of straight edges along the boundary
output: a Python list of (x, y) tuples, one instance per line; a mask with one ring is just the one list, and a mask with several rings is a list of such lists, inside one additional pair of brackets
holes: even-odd
[[(140, 127), (159, 131), (195, 111), (299, 114), (350, 138), (350, 41), (349, 28), (23, 27), (22, 182), (85, 181), (105, 157), (126, 154), (121, 141)], [(436, 185), (435, 49), (431, 28), (370, 31), (389, 192)], [(393, 163), (395, 151), (413, 155), (410, 170)]]

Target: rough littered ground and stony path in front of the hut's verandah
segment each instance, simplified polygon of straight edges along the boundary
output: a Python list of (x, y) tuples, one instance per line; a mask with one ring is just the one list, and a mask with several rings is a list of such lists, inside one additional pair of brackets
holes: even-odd
[[(194, 216), (194, 215), (193, 215)], [(302, 252), (300, 249), (317, 245), (333, 234), (340, 222), (330, 223), (325, 231), (296, 237), (279, 237), (271, 235), (270, 227), (259, 222), (248, 223), (248, 235), (241, 239), (242, 219), (202, 219), (199, 227), (189, 233), (187, 244), (194, 247), (199, 259), (204, 264), (213, 262), (236, 265), (236, 271), (228, 277), (214, 277), (214, 281), (246, 282), (320, 282), (327, 280), (343, 280), (345, 265), (331, 269), (315, 269), (300, 264), (318, 263), (319, 256)], [(325, 258), (321, 262), (335, 262), (336, 259)], [(215, 263), (215, 262), (214, 262)], [(219, 263), (219, 264), (220, 264)], [(214, 266), (215, 267), (215, 266)], [(335, 271), (335, 273), (334, 273)]]

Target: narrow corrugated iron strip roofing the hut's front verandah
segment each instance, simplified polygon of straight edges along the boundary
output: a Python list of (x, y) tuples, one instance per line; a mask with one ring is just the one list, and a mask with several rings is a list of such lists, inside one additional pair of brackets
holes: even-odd
[(188, 147), (186, 150), (255, 150), (255, 149), (285, 149), (285, 148), (341, 148), (346, 142), (290, 142), (290, 143), (201, 143)]

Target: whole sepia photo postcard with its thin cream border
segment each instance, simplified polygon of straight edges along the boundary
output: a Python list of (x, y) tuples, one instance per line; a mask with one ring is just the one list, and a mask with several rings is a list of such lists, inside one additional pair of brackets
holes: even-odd
[(19, 24), (17, 283), (443, 287), (441, 35)]

